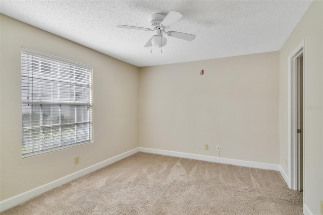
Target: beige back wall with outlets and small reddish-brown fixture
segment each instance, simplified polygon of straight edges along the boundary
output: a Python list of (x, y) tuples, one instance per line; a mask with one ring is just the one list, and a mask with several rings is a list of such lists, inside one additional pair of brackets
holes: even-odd
[(139, 82), (141, 147), (279, 164), (278, 51), (143, 67)]

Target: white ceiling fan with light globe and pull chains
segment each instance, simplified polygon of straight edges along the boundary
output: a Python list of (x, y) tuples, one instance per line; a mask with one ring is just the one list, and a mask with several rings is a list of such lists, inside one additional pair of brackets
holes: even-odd
[[(165, 29), (174, 24), (180, 18), (182, 18), (182, 14), (176, 11), (170, 11), (168, 15), (166, 14), (152, 14), (150, 16), (150, 28), (142, 28), (136, 26), (129, 26), (129, 25), (117, 25), (118, 28), (128, 28), (128, 29), (135, 29), (135, 30), (143, 30), (143, 31), (155, 31), (155, 35), (153, 35), (148, 42), (144, 45), (144, 47), (150, 47), (151, 45), (156, 47), (163, 47), (167, 43), (167, 38), (163, 36), (163, 33), (167, 34), (171, 37), (176, 37), (179, 39), (184, 39), (187, 41), (192, 41), (195, 39), (195, 35), (187, 34), (177, 31), (168, 31), (166, 32)], [(163, 52), (163, 50), (161, 50)]]

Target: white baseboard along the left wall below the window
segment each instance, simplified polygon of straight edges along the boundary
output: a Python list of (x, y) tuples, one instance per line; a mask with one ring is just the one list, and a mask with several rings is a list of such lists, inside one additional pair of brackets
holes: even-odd
[(66, 184), (70, 181), (73, 181), (79, 177), (82, 177), (82, 176), (85, 176), (89, 173), (92, 173), (96, 170), (99, 170), (103, 167), (106, 167), (108, 165), (111, 165), (115, 162), (117, 162), (118, 160), (121, 160), (123, 158), (126, 158), (134, 153), (137, 153), (139, 151), (139, 148), (135, 148), (135, 149), (132, 149), (130, 151), (127, 151), (125, 153), (122, 153), (122, 154), (119, 154), (117, 156), (114, 156), (114, 157), (111, 157), (109, 159), (106, 159), (100, 163), (97, 163), (95, 165), (92, 165), (90, 167), (87, 167), (83, 170), (80, 170), (80, 171), (77, 171), (75, 173), (72, 173), (70, 175), (67, 175), (63, 178), (60, 178), (60, 179), (57, 179), (55, 181), (52, 181), (52, 182), (49, 182), (47, 184), (44, 184), (44, 185), (41, 185), (39, 187), (36, 187), (32, 190), (28, 190), (24, 193), (21, 193), (19, 195), (16, 195), (16, 196), (13, 196), (11, 198), (8, 198), (8, 199), (5, 199), (3, 201), (0, 201), (0, 211), (4, 211), (6, 209), (9, 209), (10, 207), (13, 207), (13, 206), (16, 206), (18, 204), (21, 204), (33, 197), (36, 197), (44, 192), (47, 192), (53, 188), (56, 188), (56, 187), (59, 187), (63, 184)]

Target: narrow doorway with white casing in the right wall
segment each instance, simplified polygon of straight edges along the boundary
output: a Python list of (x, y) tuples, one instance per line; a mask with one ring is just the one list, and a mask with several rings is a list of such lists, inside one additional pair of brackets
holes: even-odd
[(303, 195), (304, 157), (304, 41), (289, 56), (289, 188)]

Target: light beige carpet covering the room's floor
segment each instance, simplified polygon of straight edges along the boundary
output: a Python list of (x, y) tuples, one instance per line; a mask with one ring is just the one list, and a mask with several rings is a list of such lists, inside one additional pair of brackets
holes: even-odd
[(302, 214), (277, 171), (139, 152), (4, 214)]

